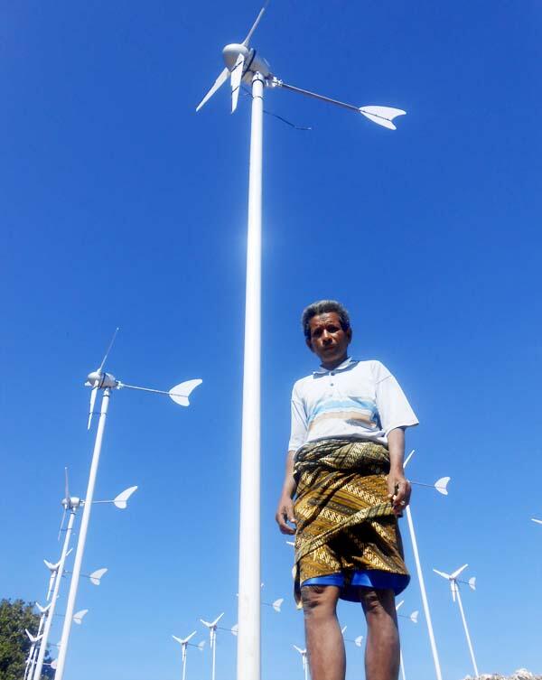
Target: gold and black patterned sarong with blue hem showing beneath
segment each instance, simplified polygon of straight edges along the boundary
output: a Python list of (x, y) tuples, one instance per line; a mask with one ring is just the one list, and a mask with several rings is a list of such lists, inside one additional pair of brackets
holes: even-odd
[(294, 593), (336, 584), (343, 600), (359, 586), (402, 592), (410, 580), (388, 498), (388, 449), (378, 442), (322, 439), (295, 455)]

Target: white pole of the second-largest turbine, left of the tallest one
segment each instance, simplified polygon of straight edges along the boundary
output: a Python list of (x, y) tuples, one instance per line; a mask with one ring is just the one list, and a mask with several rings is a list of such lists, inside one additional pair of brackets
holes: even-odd
[(81, 517), (81, 526), (79, 528), (79, 540), (77, 542), (77, 550), (75, 553), (75, 560), (73, 562), (73, 573), (71, 574), (70, 592), (68, 593), (68, 602), (66, 604), (66, 618), (64, 619), (64, 626), (62, 628), (61, 649), (57, 661), (56, 673), (54, 675), (55, 680), (62, 680), (62, 676), (64, 675), (66, 653), (68, 651), (68, 640), (70, 639), (71, 621), (73, 619), (75, 598), (77, 597), (77, 589), (79, 586), (79, 574), (81, 573), (81, 564), (83, 562), (83, 554), (85, 552), (85, 541), (87, 540), (87, 531), (89, 529), (90, 510), (92, 509), (94, 486), (96, 484), (96, 475), (98, 473), (99, 454), (101, 452), (102, 439), (104, 436), (104, 429), (106, 426), (107, 406), (109, 405), (109, 394), (110, 389), (106, 387), (106, 389), (104, 390), (104, 396), (102, 396), (102, 403), (98, 420), (98, 431), (96, 433), (96, 441), (94, 442), (92, 462), (90, 463), (89, 486), (87, 487), (87, 496), (85, 498), (85, 505), (83, 506), (83, 517)]

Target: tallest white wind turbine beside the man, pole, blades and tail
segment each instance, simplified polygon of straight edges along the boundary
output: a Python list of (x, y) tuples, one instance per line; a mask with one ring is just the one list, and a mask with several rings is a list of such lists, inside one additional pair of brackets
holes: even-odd
[(248, 243), (245, 305), (245, 357), (241, 434), (241, 483), (238, 575), (238, 680), (260, 677), (260, 379), (261, 379), (261, 241), (262, 241), (262, 142), (264, 88), (284, 88), (320, 99), (366, 116), (379, 126), (395, 130), (393, 119), (405, 114), (400, 108), (356, 107), (309, 90), (295, 88), (272, 74), (268, 62), (250, 46), (250, 40), (266, 11), (260, 10), (243, 42), (222, 50), (225, 68), (197, 111), (229, 79), (231, 111), (238, 106), (241, 82), (252, 86), (252, 122), (248, 180)]

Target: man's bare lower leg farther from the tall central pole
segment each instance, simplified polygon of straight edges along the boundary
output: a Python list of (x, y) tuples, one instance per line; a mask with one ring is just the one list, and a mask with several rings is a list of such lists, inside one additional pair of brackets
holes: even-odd
[(360, 601), (367, 619), (366, 680), (397, 680), (399, 632), (394, 592), (360, 588)]

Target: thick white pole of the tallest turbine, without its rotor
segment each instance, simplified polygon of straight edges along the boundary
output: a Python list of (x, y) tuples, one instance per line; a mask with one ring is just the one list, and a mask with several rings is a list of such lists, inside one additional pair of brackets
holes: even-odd
[(239, 520), (238, 680), (260, 678), (260, 337), (264, 78), (252, 79)]

